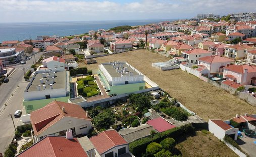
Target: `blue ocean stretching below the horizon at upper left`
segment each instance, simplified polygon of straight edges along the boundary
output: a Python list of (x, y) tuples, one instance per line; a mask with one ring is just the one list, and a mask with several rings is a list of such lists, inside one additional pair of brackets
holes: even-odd
[(42, 35), (69, 36), (83, 34), (90, 30), (110, 29), (116, 26), (146, 25), (166, 20), (116, 20), (116, 21), (72, 21), (72, 22), (31, 22), (31, 23), (0, 23), (0, 42), (5, 40), (36, 39)]

